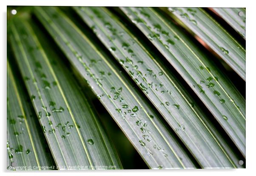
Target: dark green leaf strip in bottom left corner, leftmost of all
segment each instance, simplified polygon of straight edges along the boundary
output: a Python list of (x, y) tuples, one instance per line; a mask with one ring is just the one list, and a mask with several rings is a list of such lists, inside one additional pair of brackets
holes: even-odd
[[(7, 166), (18, 170), (44, 170), (54, 161), (39, 126), (30, 99), (18, 80), (15, 79), (9, 61), (7, 92)], [(53, 169), (48, 168), (48, 169)]]

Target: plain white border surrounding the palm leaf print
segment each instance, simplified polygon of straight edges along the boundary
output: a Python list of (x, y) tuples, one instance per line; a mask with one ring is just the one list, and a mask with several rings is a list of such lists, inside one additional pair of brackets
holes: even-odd
[[(252, 0), (1, 0), (1, 27), (0, 27), (0, 53), (2, 58), (0, 59), (0, 75), (1, 75), (1, 86), (0, 86), (0, 112), (1, 112), (1, 159), (0, 167), (1, 171), (5, 172), (3, 175), (12, 175), (13, 172), (6, 173), (6, 5), (61, 5), (61, 6), (172, 6), (172, 7), (246, 7), (246, 169), (214, 169), (214, 170), (119, 170), (119, 171), (87, 171), (80, 172), (76, 171), (77, 174), (89, 174), (89, 175), (110, 175), (110, 176), (128, 176), (131, 174), (155, 176), (156, 174), (161, 175), (189, 175), (189, 176), (216, 176), (219, 174), (228, 174), (232, 176), (252, 175), (254, 168), (256, 167), (255, 161), (255, 135), (256, 135), (256, 115), (253, 112), (256, 104), (256, 26), (255, 26), (255, 4)], [(73, 171), (74, 172), (74, 171)], [(56, 175), (70, 175), (69, 171), (53, 172)], [(35, 173), (16, 173), (21, 176), (34, 175)], [(37, 175), (52, 174), (49, 172), (37, 172)], [(255, 174), (254, 174), (255, 175)]]

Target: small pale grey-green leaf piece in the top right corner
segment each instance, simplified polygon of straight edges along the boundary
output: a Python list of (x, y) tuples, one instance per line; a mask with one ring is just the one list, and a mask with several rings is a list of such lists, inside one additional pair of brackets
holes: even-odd
[(245, 38), (245, 8), (213, 8), (213, 10)]

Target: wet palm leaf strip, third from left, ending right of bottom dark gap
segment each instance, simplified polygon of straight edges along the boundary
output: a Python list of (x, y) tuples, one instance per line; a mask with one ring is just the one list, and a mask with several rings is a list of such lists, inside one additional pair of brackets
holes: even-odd
[(37, 7), (35, 14), (150, 168), (195, 167), (161, 116), (89, 35), (57, 8)]

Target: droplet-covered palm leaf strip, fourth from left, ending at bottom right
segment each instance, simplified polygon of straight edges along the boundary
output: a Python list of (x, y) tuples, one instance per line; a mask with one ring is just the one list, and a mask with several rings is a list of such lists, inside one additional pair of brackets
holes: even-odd
[[(123, 68), (172, 126), (203, 168), (240, 167), (232, 149), (168, 68), (106, 8), (75, 7)], [(128, 25), (127, 25), (128, 26)], [(144, 45), (145, 46), (145, 45)], [(137, 75), (137, 76), (136, 76)], [(171, 106), (171, 107), (170, 107)], [(179, 130), (180, 126), (185, 130)], [(194, 142), (196, 141), (196, 143)], [(207, 142), (206, 142), (207, 141)], [(200, 147), (199, 147), (200, 146)], [(232, 159), (231, 159), (231, 158)]]

